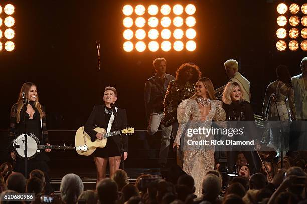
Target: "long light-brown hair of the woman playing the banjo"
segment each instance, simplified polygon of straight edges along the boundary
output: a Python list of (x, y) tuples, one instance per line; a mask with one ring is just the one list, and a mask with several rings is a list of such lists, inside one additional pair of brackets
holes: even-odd
[[(19, 98), (17, 100), (17, 111), (16, 111), (16, 122), (19, 123), (20, 122), (20, 111), (23, 108), (23, 98), (22, 98), (22, 92), (25, 92), (26, 97), (29, 96), (29, 92), (30, 92), (30, 88), (31, 86), (35, 86), (37, 89), (37, 86), (32, 83), (32, 82), (26, 82), (23, 84), (22, 88), (20, 89), (20, 93), (19, 93)], [(29, 103), (29, 99), (28, 99), (28, 103)], [(42, 111), (42, 107), (41, 104), (39, 103), (39, 98), (38, 98), (38, 94), (36, 96), (36, 99), (34, 101), (34, 107), (38, 110), (38, 112), (40, 113), (41, 119), (43, 118), (43, 111)]]

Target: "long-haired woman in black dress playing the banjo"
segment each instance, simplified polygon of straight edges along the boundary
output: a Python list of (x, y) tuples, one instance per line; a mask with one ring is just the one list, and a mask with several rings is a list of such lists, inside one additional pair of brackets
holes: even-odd
[[(26, 114), (24, 118), (24, 104), (22, 92), (25, 93), (27, 98)], [(17, 103), (11, 109), (10, 114), (10, 135), (9, 138), (13, 143), (13, 139), (25, 132), (24, 123), (26, 122), (27, 133), (34, 134), (42, 145), (50, 145), (48, 140), (48, 131), (46, 126), (45, 106), (39, 103), (37, 86), (32, 82), (23, 84)], [(13, 147), (13, 146), (12, 146)], [(25, 161), (17, 157), (14, 151), (11, 152), (11, 157), (15, 162), (14, 171), (20, 172), (29, 177), (29, 173), (34, 169), (42, 170), (45, 173), (46, 183), (50, 181), (48, 176), (49, 167), (47, 162), (50, 160), (45, 152), (50, 152), (50, 149), (41, 151), (34, 158), (27, 161), (27, 175), (25, 175)]]

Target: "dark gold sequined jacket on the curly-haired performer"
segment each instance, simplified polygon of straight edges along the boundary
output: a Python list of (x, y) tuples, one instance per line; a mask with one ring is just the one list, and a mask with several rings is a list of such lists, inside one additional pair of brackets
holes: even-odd
[(174, 123), (177, 121), (177, 107), (185, 99), (192, 97), (195, 94), (195, 84), (186, 82), (184, 86), (179, 84), (178, 80), (173, 80), (169, 83), (168, 90), (164, 98), (164, 115), (165, 121), (167, 120), (167, 115), (170, 118), (173, 116), (174, 121), (166, 123)]

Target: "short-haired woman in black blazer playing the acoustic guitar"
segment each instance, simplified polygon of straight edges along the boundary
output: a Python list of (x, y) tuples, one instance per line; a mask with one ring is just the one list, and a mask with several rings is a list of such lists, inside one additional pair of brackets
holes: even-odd
[[(85, 124), (85, 132), (91, 137), (92, 141), (102, 139), (102, 134), (94, 131), (94, 127), (104, 128), (107, 132), (122, 130), (127, 128), (126, 110), (121, 108), (112, 108), (111, 105), (117, 100), (117, 92), (114, 87), (106, 87), (103, 94), (103, 105), (94, 106), (91, 115)], [(114, 117), (114, 109), (116, 116)], [(128, 136), (122, 135), (124, 146), (124, 160), (128, 156)], [(121, 155), (120, 135), (114, 135), (107, 138), (107, 144), (104, 148), (97, 148), (94, 153), (94, 161), (97, 169), (97, 183), (105, 178), (106, 166), (109, 162), (110, 177), (119, 169)]]

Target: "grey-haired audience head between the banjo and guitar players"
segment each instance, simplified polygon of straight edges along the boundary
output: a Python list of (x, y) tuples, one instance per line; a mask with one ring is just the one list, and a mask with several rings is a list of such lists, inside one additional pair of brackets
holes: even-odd
[(61, 199), (66, 203), (76, 203), (83, 191), (84, 186), (81, 178), (73, 173), (66, 174), (61, 181)]

